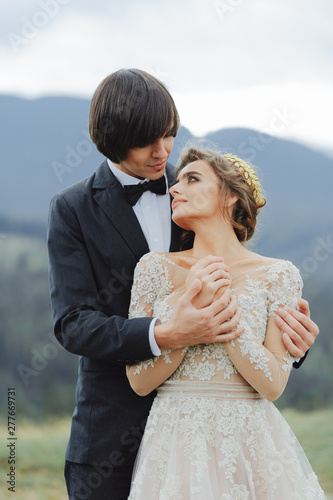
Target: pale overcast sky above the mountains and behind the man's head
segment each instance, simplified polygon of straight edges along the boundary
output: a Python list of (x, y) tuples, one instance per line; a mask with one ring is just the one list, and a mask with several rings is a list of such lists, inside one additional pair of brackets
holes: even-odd
[(246, 126), (332, 148), (331, 0), (0, 0), (0, 93), (90, 98), (122, 67), (196, 135)]

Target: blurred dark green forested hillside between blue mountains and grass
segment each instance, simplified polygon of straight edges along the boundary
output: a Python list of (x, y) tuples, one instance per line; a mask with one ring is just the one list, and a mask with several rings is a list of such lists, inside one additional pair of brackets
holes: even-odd
[[(52, 333), (45, 242), (2, 236), (0, 275), (1, 380), (16, 388), (21, 417), (68, 414), (73, 410), (78, 358), (66, 352)], [(321, 334), (303, 367), (293, 370), (277, 402), (280, 407), (315, 409), (333, 403), (331, 284), (318, 282), (313, 275), (306, 284)], [(4, 409), (7, 396), (1, 394)]]

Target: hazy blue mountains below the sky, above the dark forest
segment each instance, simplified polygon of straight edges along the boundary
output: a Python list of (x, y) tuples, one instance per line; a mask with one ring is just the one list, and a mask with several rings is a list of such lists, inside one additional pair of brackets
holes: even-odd
[[(0, 231), (43, 233), (52, 195), (103, 161), (89, 138), (89, 101), (2, 95), (0, 110)], [(188, 141), (238, 154), (258, 167), (267, 198), (256, 237), (262, 252), (304, 259), (318, 237), (332, 234), (333, 160), (324, 152), (245, 128), (196, 138), (181, 127), (173, 164)]]

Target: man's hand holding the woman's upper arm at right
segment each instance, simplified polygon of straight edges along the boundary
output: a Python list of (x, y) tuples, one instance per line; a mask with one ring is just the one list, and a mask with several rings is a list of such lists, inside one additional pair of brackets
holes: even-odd
[(290, 307), (278, 309), (275, 318), (277, 326), (283, 332), (284, 345), (299, 360), (294, 363), (294, 368), (301, 366), (319, 334), (318, 326), (310, 319), (309, 303), (301, 299), (298, 306), (299, 311)]

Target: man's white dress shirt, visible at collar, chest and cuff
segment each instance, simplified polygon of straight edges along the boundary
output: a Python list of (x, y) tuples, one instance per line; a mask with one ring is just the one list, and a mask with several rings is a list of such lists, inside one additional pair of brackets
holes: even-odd
[[(108, 165), (122, 186), (135, 185), (150, 179), (138, 179), (119, 170), (109, 159)], [(168, 187), (168, 179), (165, 176)], [(168, 252), (171, 242), (171, 208), (170, 197), (167, 189), (165, 195), (144, 191), (142, 196), (132, 207), (139, 221), (142, 232), (147, 240), (150, 251)], [(149, 343), (154, 356), (159, 356), (161, 350), (154, 337), (154, 326), (157, 318), (154, 318), (149, 327)]]

